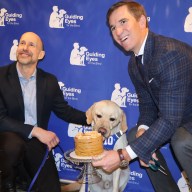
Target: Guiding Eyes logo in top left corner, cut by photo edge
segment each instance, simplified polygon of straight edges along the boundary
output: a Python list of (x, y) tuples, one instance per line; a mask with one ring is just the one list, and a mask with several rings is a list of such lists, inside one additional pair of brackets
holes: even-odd
[(23, 16), (20, 13), (8, 13), (7, 9), (0, 9), (0, 26), (4, 27), (6, 25), (19, 25), (18, 20)]

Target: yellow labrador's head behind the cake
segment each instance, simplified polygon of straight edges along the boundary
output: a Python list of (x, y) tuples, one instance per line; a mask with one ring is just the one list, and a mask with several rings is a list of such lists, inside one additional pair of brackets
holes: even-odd
[(123, 110), (113, 101), (102, 100), (94, 103), (87, 111), (87, 123), (93, 130), (100, 132), (105, 138), (121, 130), (127, 130), (126, 116)]

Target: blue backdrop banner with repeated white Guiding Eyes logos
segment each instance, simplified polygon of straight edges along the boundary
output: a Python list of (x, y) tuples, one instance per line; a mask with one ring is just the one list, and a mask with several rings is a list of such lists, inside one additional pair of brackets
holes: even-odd
[[(0, 65), (15, 61), (19, 37), (33, 31), (42, 37), (46, 57), (39, 67), (55, 74), (70, 105), (86, 111), (94, 102), (116, 100), (127, 116), (129, 129), (138, 118), (138, 99), (127, 72), (129, 57), (115, 45), (106, 25), (106, 12), (117, 0), (1, 0)], [(192, 44), (191, 0), (138, 0), (146, 8), (150, 29)], [(1, 83), (1, 82), (0, 82)], [(67, 124), (54, 114), (49, 124), (64, 151), (74, 148), (73, 137), (88, 127)], [(182, 192), (184, 177), (169, 145), (161, 149)], [(53, 151), (61, 181), (73, 181), (79, 171), (59, 148)], [(125, 192), (153, 192), (144, 169), (131, 163)]]

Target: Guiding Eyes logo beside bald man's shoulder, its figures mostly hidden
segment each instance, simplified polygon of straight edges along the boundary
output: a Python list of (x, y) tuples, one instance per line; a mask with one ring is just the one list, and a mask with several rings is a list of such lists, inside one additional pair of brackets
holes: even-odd
[(58, 84), (66, 100), (78, 100), (77, 96), (81, 94), (81, 89), (66, 87), (61, 81), (59, 81)]

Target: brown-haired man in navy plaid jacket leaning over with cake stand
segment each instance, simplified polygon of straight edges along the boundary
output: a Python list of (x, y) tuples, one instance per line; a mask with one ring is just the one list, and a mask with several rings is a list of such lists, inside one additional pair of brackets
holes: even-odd
[[(129, 75), (138, 95), (140, 115), (137, 130), (128, 133), (129, 145), (118, 153), (107, 151), (93, 165), (110, 172), (122, 161), (129, 163), (138, 157), (142, 166), (149, 167), (153, 156), (166, 166), (158, 149), (170, 141), (192, 184), (192, 48), (151, 32), (145, 9), (136, 2), (112, 5), (107, 21), (115, 42), (130, 52)], [(170, 173), (158, 174), (149, 174), (156, 191), (179, 191)], [(160, 177), (162, 182), (158, 181)]]

